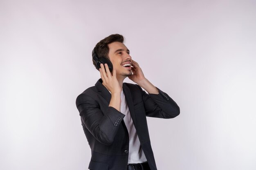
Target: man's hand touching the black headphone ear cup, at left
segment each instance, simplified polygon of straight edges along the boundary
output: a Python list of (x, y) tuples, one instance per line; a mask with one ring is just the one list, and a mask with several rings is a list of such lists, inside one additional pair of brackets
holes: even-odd
[[(106, 71), (105, 71), (105, 68), (106, 68)], [(113, 75), (111, 75), (108, 68), (108, 64), (105, 64), (105, 68), (103, 64), (101, 64), (101, 68), (99, 68), (103, 86), (105, 86), (108, 89), (108, 91), (111, 92), (111, 94), (121, 93), (122, 87), (120, 86), (117, 80), (116, 70), (113, 69)]]

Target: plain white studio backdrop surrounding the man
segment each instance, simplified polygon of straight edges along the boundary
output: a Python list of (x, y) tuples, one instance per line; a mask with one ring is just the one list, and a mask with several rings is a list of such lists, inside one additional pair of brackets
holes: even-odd
[(1, 170), (88, 168), (75, 100), (113, 33), (180, 106), (148, 118), (159, 170), (256, 169), (255, 0), (1, 0)]

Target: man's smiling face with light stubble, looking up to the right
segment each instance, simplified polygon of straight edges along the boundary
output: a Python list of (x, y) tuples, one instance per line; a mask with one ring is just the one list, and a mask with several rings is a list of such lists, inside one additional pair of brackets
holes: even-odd
[(127, 77), (132, 75), (132, 57), (130, 51), (122, 42), (112, 42), (108, 44), (108, 57), (116, 70), (117, 76)]

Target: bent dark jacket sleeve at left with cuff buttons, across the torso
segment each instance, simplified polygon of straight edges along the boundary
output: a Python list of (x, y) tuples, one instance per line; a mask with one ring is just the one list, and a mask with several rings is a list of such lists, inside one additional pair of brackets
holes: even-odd
[(111, 145), (125, 115), (113, 107), (108, 107), (103, 114), (97, 101), (83, 93), (76, 98), (76, 107), (81, 121), (95, 139)]

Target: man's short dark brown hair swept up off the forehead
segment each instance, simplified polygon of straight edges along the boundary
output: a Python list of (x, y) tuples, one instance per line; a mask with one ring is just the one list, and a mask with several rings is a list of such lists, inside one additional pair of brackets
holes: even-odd
[[(99, 58), (100, 57), (106, 57), (106, 58), (109, 59), (109, 57), (108, 57), (108, 52), (109, 52), (108, 44), (110, 44), (112, 42), (124, 42), (123, 35), (112, 34), (112, 35), (109, 35), (108, 37), (104, 38), (100, 42), (98, 42), (95, 46), (95, 52), (96, 52), (96, 54)], [(97, 68), (96, 63), (93, 60), (92, 60), (92, 63)]]

